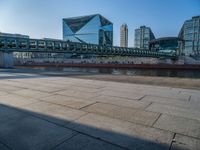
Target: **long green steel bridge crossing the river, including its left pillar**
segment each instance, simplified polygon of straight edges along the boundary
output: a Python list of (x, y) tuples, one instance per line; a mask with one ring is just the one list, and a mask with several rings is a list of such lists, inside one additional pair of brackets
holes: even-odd
[(13, 52), (38, 53), (72, 53), (93, 54), (95, 56), (137, 56), (137, 57), (164, 57), (176, 59), (174, 52), (155, 52), (138, 48), (123, 48), (117, 46), (103, 46), (95, 44), (76, 43), (54, 39), (30, 39), (19, 37), (0, 36), (0, 65), (12, 64)]

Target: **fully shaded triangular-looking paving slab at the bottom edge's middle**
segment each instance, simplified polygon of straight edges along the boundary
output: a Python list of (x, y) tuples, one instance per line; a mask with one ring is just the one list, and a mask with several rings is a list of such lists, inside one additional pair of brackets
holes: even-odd
[[(78, 144), (77, 144), (78, 143)], [(125, 150), (104, 141), (78, 134), (54, 150)]]

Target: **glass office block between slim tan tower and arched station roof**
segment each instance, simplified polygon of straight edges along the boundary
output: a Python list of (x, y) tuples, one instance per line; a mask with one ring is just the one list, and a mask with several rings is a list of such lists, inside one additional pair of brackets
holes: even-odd
[(146, 26), (140, 26), (135, 29), (135, 47), (141, 49), (149, 49), (149, 41), (155, 39), (151, 28)]

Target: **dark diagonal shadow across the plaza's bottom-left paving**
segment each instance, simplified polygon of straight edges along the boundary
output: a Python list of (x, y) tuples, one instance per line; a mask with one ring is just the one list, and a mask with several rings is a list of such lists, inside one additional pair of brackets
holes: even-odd
[[(89, 114), (82, 117), (87, 115)], [(96, 119), (90, 120), (92, 121), (98, 122)], [(169, 150), (171, 147), (171, 143), (159, 142), (159, 138), (158, 141), (154, 139), (154, 142), (116, 132), (114, 128), (115, 125), (113, 130), (96, 128), (85, 123), (0, 104), (1, 150)]]

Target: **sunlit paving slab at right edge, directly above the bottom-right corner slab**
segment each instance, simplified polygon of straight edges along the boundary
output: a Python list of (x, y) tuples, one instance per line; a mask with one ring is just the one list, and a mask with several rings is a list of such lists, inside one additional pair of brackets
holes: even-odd
[(200, 138), (200, 121), (163, 114), (154, 127)]

